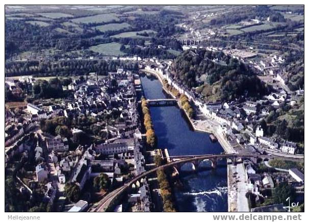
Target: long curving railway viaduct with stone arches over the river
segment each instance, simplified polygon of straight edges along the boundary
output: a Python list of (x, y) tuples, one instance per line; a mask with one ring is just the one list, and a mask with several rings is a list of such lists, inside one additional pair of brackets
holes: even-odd
[[(268, 155), (250, 155), (250, 154), (215, 154), (215, 155), (195, 155), (195, 156), (177, 156), (177, 157), (169, 157), (170, 161), (164, 165), (157, 166), (152, 168), (148, 171), (143, 172), (142, 174), (136, 176), (135, 178), (128, 181), (123, 186), (113, 190), (112, 192), (108, 193), (104, 198), (95, 204), (89, 211), (92, 212), (104, 212), (106, 211), (110, 204), (117, 199), (117, 197), (124, 192), (127, 188), (132, 187), (133, 184), (136, 184), (137, 181), (142, 183), (146, 177), (153, 172), (156, 172), (158, 169), (164, 169), (168, 167), (175, 166), (176, 168), (180, 169), (186, 163), (192, 163), (195, 166), (201, 161), (209, 160), (212, 162), (212, 167), (216, 168), (217, 161), (220, 159), (229, 159), (232, 163), (236, 164), (239, 161), (243, 161), (245, 159), (250, 159), (252, 162), (257, 162), (257, 159), (273, 159), (274, 157)], [(290, 158), (291, 159), (291, 158)]]

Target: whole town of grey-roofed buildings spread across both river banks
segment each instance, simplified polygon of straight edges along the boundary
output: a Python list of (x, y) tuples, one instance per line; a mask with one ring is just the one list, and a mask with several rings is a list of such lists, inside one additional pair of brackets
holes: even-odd
[[(296, 63), (279, 51), (265, 50), (261, 56), (256, 45), (217, 44), (211, 36), (227, 31), (198, 31), (192, 25), (221, 13), (198, 12), (175, 24), (184, 33), (177, 34), (181, 52), (173, 58), (141, 55), (146, 46), (139, 42), (133, 55), (127, 48), (133, 43), (127, 42), (122, 56), (86, 52), (38, 61), (10, 56), (5, 210), (176, 212), (175, 190), (185, 187), (182, 174), (223, 167), (225, 211), (286, 212), (286, 195), (300, 203), (293, 211), (303, 211), (304, 88), (296, 87), (298, 74), (291, 74)], [(235, 30), (272, 25), (271, 19), (240, 21)], [(164, 44), (157, 50), (166, 50)], [(29, 66), (10, 65), (23, 62)], [(59, 74), (73, 63), (79, 69), (69, 75), (38, 74), (40, 68), (55, 72), (58, 63), (66, 67), (58, 67)], [(157, 83), (164, 97), (149, 98), (146, 80)], [(163, 139), (153, 110), (170, 106), (181, 111), (191, 131), (207, 135), (205, 146), (216, 144), (223, 151), (173, 155), (172, 144), (159, 146)]]

